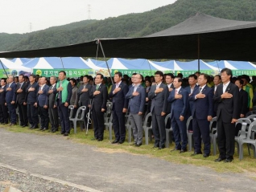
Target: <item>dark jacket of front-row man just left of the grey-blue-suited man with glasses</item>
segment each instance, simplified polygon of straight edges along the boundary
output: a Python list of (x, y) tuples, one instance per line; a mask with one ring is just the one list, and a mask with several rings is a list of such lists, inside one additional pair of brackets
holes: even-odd
[[(119, 92), (113, 94), (116, 84), (112, 85), (111, 91), (109, 92), (109, 98), (112, 98), (112, 110), (122, 112), (123, 108), (128, 108), (128, 100), (126, 99), (126, 94), (128, 92), (127, 84), (120, 83), (118, 88), (121, 88)], [(133, 89), (133, 88), (130, 88)]]

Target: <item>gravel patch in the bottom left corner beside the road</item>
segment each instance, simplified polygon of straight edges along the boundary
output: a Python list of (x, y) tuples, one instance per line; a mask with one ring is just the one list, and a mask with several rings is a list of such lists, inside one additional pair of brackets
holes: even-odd
[(13, 186), (18, 190), (26, 192), (84, 192), (72, 186), (51, 182), (43, 178), (24, 174), (19, 171), (10, 170), (0, 166), (0, 191), (2, 192), (7, 186)]

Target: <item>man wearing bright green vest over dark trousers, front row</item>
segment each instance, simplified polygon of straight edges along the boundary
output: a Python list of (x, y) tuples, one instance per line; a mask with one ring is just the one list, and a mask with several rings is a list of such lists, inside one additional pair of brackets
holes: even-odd
[(61, 134), (68, 136), (70, 133), (70, 123), (68, 117), (68, 105), (72, 96), (72, 85), (66, 80), (66, 72), (59, 72), (59, 81), (56, 85), (56, 106), (60, 116)]

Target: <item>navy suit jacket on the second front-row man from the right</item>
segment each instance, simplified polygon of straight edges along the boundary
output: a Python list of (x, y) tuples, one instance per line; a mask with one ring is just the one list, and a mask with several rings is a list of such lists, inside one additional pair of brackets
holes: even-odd
[(194, 88), (189, 100), (193, 102), (192, 116), (199, 120), (207, 119), (207, 116), (213, 116), (213, 88), (207, 85), (201, 91), (205, 95), (204, 98), (195, 99), (196, 94), (199, 93), (199, 86)]

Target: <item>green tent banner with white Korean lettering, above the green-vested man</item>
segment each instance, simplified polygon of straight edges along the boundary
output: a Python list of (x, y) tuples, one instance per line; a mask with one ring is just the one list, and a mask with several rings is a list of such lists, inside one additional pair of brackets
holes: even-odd
[[(33, 69), (33, 74), (39, 76), (59, 76), (59, 72), (63, 69)], [(94, 76), (94, 69), (64, 69), (67, 77), (81, 77), (85, 75)]]

